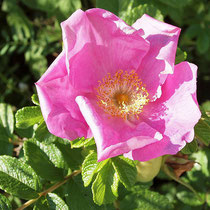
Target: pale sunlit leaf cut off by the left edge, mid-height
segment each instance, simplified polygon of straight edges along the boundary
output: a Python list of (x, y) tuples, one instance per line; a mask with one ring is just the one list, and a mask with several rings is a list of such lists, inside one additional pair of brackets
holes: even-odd
[(0, 127), (6, 130), (8, 137), (12, 137), (14, 132), (14, 115), (12, 107), (8, 104), (0, 103)]

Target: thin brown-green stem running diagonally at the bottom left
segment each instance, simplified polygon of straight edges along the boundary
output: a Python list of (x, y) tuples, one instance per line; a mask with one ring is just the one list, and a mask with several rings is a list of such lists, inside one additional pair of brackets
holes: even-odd
[(24, 203), (21, 207), (17, 208), (16, 210), (23, 210), (26, 207), (30, 206), (31, 204), (35, 203), (40, 197), (42, 196), (46, 196), (48, 193), (56, 190), (57, 188), (59, 188), (61, 185), (65, 184), (69, 179), (71, 179), (73, 176), (77, 176), (78, 174), (81, 173), (81, 170), (77, 170), (72, 172), (70, 175), (66, 176), (64, 178), (63, 181), (56, 183), (55, 185), (53, 185), (52, 187), (48, 188), (47, 190), (39, 193), (39, 197), (35, 198), (35, 199), (31, 199), (29, 201), (27, 201), (26, 203)]

